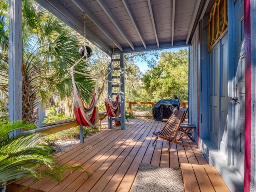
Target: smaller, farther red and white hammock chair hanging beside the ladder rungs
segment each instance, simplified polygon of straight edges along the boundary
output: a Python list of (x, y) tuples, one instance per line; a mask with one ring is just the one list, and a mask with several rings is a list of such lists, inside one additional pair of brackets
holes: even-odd
[(112, 103), (111, 100), (108, 97), (108, 92), (107, 92), (107, 88), (106, 88), (106, 81), (108, 81), (108, 80), (104, 80), (105, 107), (106, 107), (108, 116), (118, 117), (119, 114), (120, 114), (120, 100), (121, 100), (120, 99), (120, 87), (119, 87), (119, 92), (116, 95), (116, 101), (114, 103)]

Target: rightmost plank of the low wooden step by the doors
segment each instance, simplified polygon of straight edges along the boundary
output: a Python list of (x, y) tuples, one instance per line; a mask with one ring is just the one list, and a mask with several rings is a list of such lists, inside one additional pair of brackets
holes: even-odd
[(214, 166), (204, 165), (204, 169), (206, 170), (206, 173), (216, 192), (230, 192), (228, 186), (223, 181), (222, 177)]

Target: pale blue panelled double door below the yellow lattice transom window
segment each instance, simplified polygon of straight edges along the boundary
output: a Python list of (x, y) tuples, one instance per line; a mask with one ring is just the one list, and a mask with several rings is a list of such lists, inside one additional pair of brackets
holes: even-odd
[(227, 158), (228, 123), (228, 35), (225, 34), (209, 52), (210, 126), (208, 138)]

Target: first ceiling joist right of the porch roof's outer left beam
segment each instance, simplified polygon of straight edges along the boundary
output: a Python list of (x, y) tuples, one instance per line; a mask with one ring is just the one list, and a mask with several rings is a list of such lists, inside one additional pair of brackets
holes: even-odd
[(86, 13), (86, 16), (113, 42), (116, 44), (116, 46), (123, 51), (122, 46), (118, 43), (116, 38), (108, 32), (108, 30), (103, 26), (103, 24), (94, 16), (94, 14), (90, 11), (89, 8), (87, 8), (84, 3), (82, 3), (80, 0), (72, 0), (76, 6), (82, 11)]

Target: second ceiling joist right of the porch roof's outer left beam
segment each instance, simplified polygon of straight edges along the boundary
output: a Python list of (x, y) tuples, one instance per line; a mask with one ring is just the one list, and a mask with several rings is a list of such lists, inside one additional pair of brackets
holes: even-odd
[(104, 10), (104, 12), (107, 14), (108, 18), (110, 18), (110, 20), (112, 21), (112, 23), (114, 24), (114, 26), (116, 26), (117, 30), (121, 33), (121, 35), (124, 37), (124, 39), (126, 40), (126, 42), (130, 45), (130, 47), (132, 48), (132, 50), (135, 50), (134, 45), (132, 44), (132, 41), (130, 40), (130, 38), (128, 37), (128, 35), (126, 34), (126, 32), (124, 31), (124, 29), (122, 28), (122, 26), (120, 25), (120, 23), (118, 22), (118, 20), (116, 19), (116, 16), (114, 16), (114, 14), (112, 13), (112, 11), (110, 10), (110, 8), (108, 7), (108, 5), (106, 4), (105, 1), (103, 0), (96, 0), (98, 2), (98, 4), (100, 5), (100, 7)]

